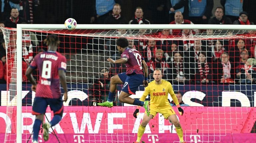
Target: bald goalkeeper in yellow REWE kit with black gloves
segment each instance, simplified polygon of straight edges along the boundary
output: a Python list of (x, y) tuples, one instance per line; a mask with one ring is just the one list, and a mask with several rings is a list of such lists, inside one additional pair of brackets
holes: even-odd
[[(178, 110), (181, 115), (184, 111), (181, 108), (178, 99), (173, 91), (172, 85), (170, 82), (162, 80), (162, 72), (160, 69), (156, 69), (153, 73), (154, 81), (150, 82), (148, 87), (145, 88), (145, 91), (140, 98), (140, 101), (144, 101), (147, 95), (150, 94), (150, 115), (144, 114), (141, 125), (138, 129), (137, 140), (135, 143), (140, 143), (141, 137), (144, 134), (145, 127), (157, 113), (161, 113), (165, 119), (170, 120), (170, 122), (175, 125), (176, 132), (180, 138), (181, 143), (185, 143), (183, 140), (183, 130), (181, 128), (180, 122), (168, 101), (168, 93), (171, 94), (174, 103), (178, 107)], [(139, 113), (139, 107), (137, 106), (133, 116), (137, 118), (137, 113)]]

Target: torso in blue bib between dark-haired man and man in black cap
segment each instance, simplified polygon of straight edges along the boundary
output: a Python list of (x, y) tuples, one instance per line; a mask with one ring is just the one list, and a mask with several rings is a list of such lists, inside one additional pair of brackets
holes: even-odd
[(243, 11), (243, 0), (220, 0), (220, 4), (225, 9), (226, 17), (234, 22), (241, 11)]

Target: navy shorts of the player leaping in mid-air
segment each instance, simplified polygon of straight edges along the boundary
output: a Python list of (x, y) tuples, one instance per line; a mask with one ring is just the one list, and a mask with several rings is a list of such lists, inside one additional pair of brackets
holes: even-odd
[(143, 84), (144, 81), (144, 75), (143, 74), (130, 74), (126, 75), (126, 72), (118, 74), (121, 81), (124, 83), (124, 86), (122, 88), (122, 91), (129, 93), (129, 94), (135, 94), (136, 90), (140, 85)]

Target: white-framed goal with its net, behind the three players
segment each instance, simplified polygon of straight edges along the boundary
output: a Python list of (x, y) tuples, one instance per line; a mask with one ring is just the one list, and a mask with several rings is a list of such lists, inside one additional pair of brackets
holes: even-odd
[[(143, 55), (149, 81), (154, 80), (153, 71), (159, 68), (163, 79), (172, 83), (177, 96), (182, 95), (180, 104), (185, 105), (182, 107), (184, 115), (177, 116), (185, 141), (235, 143), (240, 140), (238, 137), (253, 139), (248, 133), (255, 132), (254, 25), (80, 24), (72, 31), (64, 29), (64, 25), (44, 25), (18, 24), (18, 29), (1, 28), (7, 53), (7, 88), (1, 92), (1, 110), (6, 109), (6, 118), (1, 120), (5, 127), (0, 132), (5, 133), (5, 143), (32, 142), (35, 92), (25, 72), (33, 57), (47, 50), (44, 39), (50, 34), (57, 34), (61, 41), (58, 52), (67, 59), (68, 84), (63, 118), (49, 130), (51, 142), (136, 141), (145, 111), (141, 108), (135, 119), (136, 107), (118, 101), (122, 85), (117, 86), (114, 107), (97, 106), (107, 100), (110, 78), (126, 71), (124, 64), (107, 61), (107, 58), (120, 58), (116, 49), (119, 37), (126, 37), (129, 48)], [(38, 79), (37, 70), (33, 76)], [(141, 85), (131, 97), (138, 99), (143, 91)], [(168, 99), (173, 104), (170, 95)], [(146, 100), (150, 100), (150, 95)], [(178, 109), (173, 108), (178, 113)], [(52, 118), (53, 113), (47, 108), (44, 122)], [(38, 141), (44, 142), (42, 130)], [(157, 114), (146, 126), (142, 141), (178, 143), (179, 137), (175, 126)]]

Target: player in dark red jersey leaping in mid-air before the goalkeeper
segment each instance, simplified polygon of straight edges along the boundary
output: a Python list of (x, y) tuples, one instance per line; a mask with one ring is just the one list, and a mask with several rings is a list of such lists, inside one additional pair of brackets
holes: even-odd
[(148, 86), (148, 66), (137, 50), (128, 48), (129, 42), (126, 38), (118, 38), (116, 40), (116, 45), (118, 51), (121, 53), (121, 58), (118, 60), (108, 58), (107, 60), (112, 63), (125, 63), (127, 69), (126, 72), (111, 77), (108, 100), (103, 103), (98, 103), (98, 105), (113, 107), (113, 97), (116, 91), (116, 85), (124, 84), (118, 97), (119, 101), (122, 103), (143, 106), (149, 116), (149, 101), (144, 102), (129, 97), (131, 94), (135, 94), (137, 88), (141, 84), (143, 84), (144, 87)]

